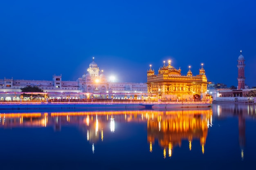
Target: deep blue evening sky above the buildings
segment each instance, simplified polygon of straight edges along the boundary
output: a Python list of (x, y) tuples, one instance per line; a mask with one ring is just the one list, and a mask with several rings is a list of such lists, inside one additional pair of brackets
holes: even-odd
[(6, 0), (0, 2), (0, 79), (75, 81), (92, 57), (107, 77), (146, 82), (171, 60), (186, 74), (256, 86), (255, 0)]

